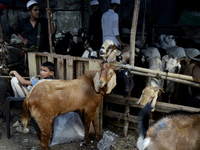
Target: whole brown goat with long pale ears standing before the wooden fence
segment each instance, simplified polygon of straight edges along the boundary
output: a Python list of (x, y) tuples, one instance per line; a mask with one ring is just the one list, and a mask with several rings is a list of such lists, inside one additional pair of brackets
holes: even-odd
[(39, 145), (49, 150), (48, 141), (52, 132), (52, 123), (56, 115), (71, 111), (84, 111), (86, 144), (90, 122), (97, 131), (96, 111), (104, 94), (108, 94), (116, 85), (116, 74), (109, 64), (103, 64), (100, 71), (86, 71), (75, 80), (44, 80), (36, 84), (23, 102), (22, 124), (27, 126), (33, 117), (39, 126)]

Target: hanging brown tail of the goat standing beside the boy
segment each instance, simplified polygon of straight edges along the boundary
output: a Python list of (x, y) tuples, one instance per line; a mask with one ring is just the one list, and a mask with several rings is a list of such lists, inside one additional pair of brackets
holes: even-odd
[(24, 128), (27, 127), (27, 124), (30, 118), (31, 118), (31, 114), (29, 111), (28, 99), (26, 98), (23, 102), (23, 115), (22, 115), (22, 124)]

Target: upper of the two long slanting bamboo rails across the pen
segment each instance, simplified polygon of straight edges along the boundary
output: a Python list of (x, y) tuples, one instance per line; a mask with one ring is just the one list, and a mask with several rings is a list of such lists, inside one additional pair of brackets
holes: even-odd
[[(151, 70), (147, 68), (141, 68), (141, 67), (123, 65), (123, 64), (114, 64), (114, 63), (110, 63), (110, 65), (114, 67), (120, 67), (120, 68), (130, 69), (130, 70), (139, 71), (139, 72), (146, 72), (146, 73), (159, 74), (162, 76), (166, 76), (166, 72), (158, 71), (158, 70)], [(187, 81), (194, 81), (192, 76), (176, 74), (176, 73), (168, 73), (167, 77), (173, 77), (173, 78), (178, 78), (178, 79), (187, 80)]]

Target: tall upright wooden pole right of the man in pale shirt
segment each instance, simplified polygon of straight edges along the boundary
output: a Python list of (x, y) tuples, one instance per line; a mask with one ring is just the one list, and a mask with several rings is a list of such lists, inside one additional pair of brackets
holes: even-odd
[[(131, 27), (131, 37), (130, 37), (130, 45), (131, 45), (131, 55), (129, 58), (129, 62), (131, 66), (134, 66), (135, 62), (135, 36), (137, 32), (137, 22), (138, 22), (138, 15), (140, 9), (140, 0), (135, 0), (134, 11), (133, 11), (133, 20), (132, 20), (132, 27)], [(126, 101), (126, 100), (125, 100)], [(129, 121), (128, 118), (130, 116), (130, 106), (126, 101), (124, 116), (126, 116), (124, 121), (124, 136), (127, 136)]]

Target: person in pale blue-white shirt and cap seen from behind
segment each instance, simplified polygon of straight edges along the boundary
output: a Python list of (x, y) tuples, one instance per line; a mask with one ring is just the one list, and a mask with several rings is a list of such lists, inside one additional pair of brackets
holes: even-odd
[(119, 15), (117, 14), (120, 6), (120, 0), (111, 0), (110, 9), (105, 12), (101, 19), (103, 31), (103, 43), (106, 40), (112, 40), (115, 44), (126, 47), (119, 35)]

